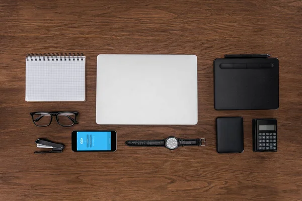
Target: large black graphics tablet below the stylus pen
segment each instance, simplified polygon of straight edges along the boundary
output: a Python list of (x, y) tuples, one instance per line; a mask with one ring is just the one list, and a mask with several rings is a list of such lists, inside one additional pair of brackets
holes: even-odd
[(215, 59), (214, 108), (216, 110), (278, 109), (278, 59)]

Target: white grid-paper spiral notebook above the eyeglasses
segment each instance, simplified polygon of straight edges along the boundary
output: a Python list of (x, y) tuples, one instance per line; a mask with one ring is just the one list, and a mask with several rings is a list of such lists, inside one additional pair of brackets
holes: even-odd
[(27, 54), (27, 102), (85, 101), (83, 54)]

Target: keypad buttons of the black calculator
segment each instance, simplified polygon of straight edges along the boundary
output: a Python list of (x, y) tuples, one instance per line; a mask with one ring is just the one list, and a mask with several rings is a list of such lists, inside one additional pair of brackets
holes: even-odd
[(258, 133), (258, 151), (276, 151), (277, 150), (277, 133)]

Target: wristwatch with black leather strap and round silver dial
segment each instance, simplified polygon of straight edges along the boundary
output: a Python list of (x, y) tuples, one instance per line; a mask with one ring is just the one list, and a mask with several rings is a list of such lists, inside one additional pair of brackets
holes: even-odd
[(163, 140), (128, 140), (125, 142), (128, 146), (165, 146), (168, 149), (176, 149), (178, 146), (205, 146), (205, 138), (198, 139), (178, 139), (170, 136)]

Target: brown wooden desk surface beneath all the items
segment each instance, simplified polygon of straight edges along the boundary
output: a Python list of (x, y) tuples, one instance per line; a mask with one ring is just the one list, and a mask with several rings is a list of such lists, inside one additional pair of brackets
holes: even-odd
[[(302, 2), (1, 1), (0, 200), (302, 200)], [(87, 100), (25, 102), (26, 53), (83, 52)], [(269, 53), (280, 61), (280, 108), (215, 111), (213, 60)], [(195, 54), (196, 126), (95, 123), (98, 54)], [(79, 125), (35, 127), (30, 112), (79, 111)], [(216, 152), (215, 118), (244, 118), (244, 153)], [(252, 151), (252, 119), (277, 118), (278, 152)], [(114, 129), (115, 153), (73, 153), (70, 134)], [(129, 139), (205, 137), (205, 147), (132, 148)], [(58, 154), (34, 154), (46, 137)]]

